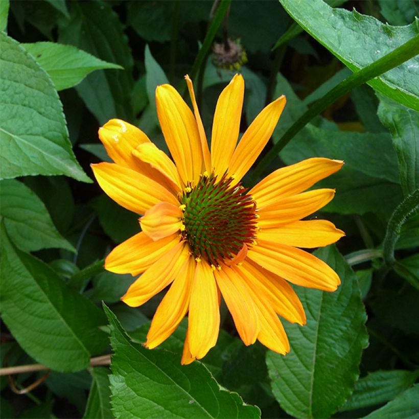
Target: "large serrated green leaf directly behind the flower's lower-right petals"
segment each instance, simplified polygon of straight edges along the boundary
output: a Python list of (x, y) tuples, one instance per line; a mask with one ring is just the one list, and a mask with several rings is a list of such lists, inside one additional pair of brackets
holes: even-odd
[(275, 398), (290, 415), (329, 417), (343, 405), (359, 376), (367, 346), (366, 314), (352, 269), (335, 247), (315, 252), (339, 275), (335, 292), (298, 288), (307, 325), (285, 324), (291, 352), (268, 352)]

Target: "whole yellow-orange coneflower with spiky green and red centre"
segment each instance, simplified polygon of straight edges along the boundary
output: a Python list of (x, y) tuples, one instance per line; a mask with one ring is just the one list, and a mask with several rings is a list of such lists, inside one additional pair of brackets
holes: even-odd
[(141, 274), (122, 300), (144, 304), (170, 285), (151, 322), (145, 345), (167, 339), (188, 314), (182, 363), (206, 355), (217, 342), (220, 296), (245, 345), (258, 339), (280, 354), (289, 342), (278, 315), (305, 324), (289, 282), (334, 291), (338, 275), (311, 253), (344, 235), (331, 222), (306, 220), (334, 196), (332, 189), (305, 192), (343, 162), (310, 158), (278, 169), (247, 190), (241, 179), (268, 142), (285, 106), (266, 106), (236, 146), (244, 80), (236, 75), (215, 109), (211, 153), (195, 100), (195, 115), (178, 92), (156, 89), (157, 114), (173, 161), (147, 135), (110, 120), (99, 136), (114, 164), (92, 165), (101, 188), (137, 214), (142, 231), (115, 247), (105, 268)]

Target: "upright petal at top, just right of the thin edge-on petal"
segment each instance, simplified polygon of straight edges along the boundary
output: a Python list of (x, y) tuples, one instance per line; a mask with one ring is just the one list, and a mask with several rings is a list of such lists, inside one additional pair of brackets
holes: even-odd
[(240, 74), (236, 74), (217, 101), (211, 136), (211, 164), (218, 176), (222, 176), (227, 170), (236, 148), (243, 96), (244, 80)]

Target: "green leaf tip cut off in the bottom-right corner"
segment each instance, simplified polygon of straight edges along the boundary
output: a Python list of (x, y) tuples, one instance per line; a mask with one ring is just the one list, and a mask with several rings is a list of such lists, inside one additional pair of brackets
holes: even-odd
[(419, 417), (419, 384), (415, 384), (382, 408), (365, 416), (365, 419), (392, 419), (394, 417)]

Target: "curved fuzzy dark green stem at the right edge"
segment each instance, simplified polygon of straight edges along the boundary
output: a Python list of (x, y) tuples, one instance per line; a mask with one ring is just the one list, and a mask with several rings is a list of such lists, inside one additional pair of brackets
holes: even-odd
[(406, 219), (419, 209), (419, 188), (408, 195), (402, 203), (395, 208), (387, 224), (387, 231), (383, 242), (384, 264), (387, 267), (394, 265), (394, 246), (400, 236), (400, 230)]

